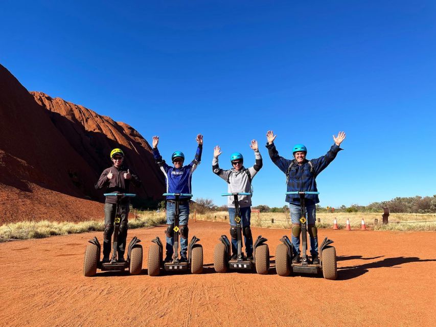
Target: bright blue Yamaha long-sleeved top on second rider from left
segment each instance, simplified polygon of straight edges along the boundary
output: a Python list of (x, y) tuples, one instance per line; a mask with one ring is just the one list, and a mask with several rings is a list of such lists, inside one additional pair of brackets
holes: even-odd
[[(203, 146), (198, 145), (194, 160), (192, 160), (189, 165), (183, 166), (180, 169), (176, 169), (166, 164), (165, 160), (162, 159), (162, 156), (160, 155), (159, 150), (157, 150), (157, 148), (153, 149), (154, 160), (156, 160), (156, 164), (160, 167), (160, 170), (162, 170), (162, 172), (164, 173), (167, 181), (166, 193), (191, 194), (192, 173), (197, 168), (198, 164), (200, 164), (202, 151), (203, 151)], [(182, 198), (188, 198), (188, 197), (180, 197), (180, 199)], [(168, 199), (174, 200), (175, 196), (167, 196), (167, 200)]]

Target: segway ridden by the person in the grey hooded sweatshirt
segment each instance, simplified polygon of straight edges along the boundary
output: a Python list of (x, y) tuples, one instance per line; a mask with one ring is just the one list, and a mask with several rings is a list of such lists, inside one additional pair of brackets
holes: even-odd
[[(238, 240), (238, 254), (236, 259), (231, 258), (231, 243), (227, 236), (221, 235), (220, 243), (215, 246), (214, 250), (214, 268), (216, 272), (224, 273), (229, 269), (235, 270), (252, 270), (256, 267), (258, 274), (266, 275), (269, 271), (269, 248), (265, 242), (267, 239), (261, 235), (258, 236), (253, 244), (253, 260), (248, 260), (242, 252), (242, 231), (241, 231), (241, 212), (239, 210), (238, 195), (251, 195), (250, 193), (223, 193), (221, 196), (232, 196), (235, 199), (235, 221)], [(243, 226), (242, 226), (243, 227)]]

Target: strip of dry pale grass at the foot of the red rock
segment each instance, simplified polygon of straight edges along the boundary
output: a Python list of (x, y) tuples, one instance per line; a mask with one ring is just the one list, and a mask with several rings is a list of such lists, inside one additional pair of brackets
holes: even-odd
[[(165, 215), (140, 212), (138, 219), (129, 216), (129, 228), (144, 228), (162, 224), (165, 222)], [(53, 221), (23, 221), (0, 226), (0, 242), (10, 240), (40, 239), (53, 235), (67, 235), (88, 231), (103, 231), (102, 221), (53, 222)]]

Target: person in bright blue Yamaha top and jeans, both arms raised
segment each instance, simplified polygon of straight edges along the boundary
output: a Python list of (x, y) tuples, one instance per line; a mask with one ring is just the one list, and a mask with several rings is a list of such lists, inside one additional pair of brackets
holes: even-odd
[[(196, 138), (198, 147), (195, 153), (194, 160), (189, 165), (183, 166), (185, 155), (183, 152), (176, 151), (171, 155), (171, 160), (174, 167), (166, 164), (165, 160), (157, 150), (159, 136), (153, 136), (153, 156), (156, 164), (165, 175), (167, 181), (166, 193), (185, 193), (191, 194), (191, 179), (192, 173), (200, 164), (201, 152), (203, 151), (203, 135), (198, 134)], [(167, 196), (167, 245), (165, 262), (171, 262), (173, 256), (174, 245), (174, 214), (175, 214), (175, 196)], [(179, 226), (180, 226), (180, 260), (179, 262), (188, 262), (188, 220), (189, 220), (189, 197), (179, 198)]]

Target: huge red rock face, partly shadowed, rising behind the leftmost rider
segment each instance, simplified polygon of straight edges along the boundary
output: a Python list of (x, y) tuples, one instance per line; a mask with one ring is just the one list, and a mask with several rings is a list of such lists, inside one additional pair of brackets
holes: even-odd
[(100, 219), (102, 204), (90, 199), (103, 202), (103, 192), (94, 183), (119, 146), (143, 181), (130, 191), (160, 199), (165, 181), (137, 131), (62, 99), (30, 94), (0, 65), (0, 224)]

